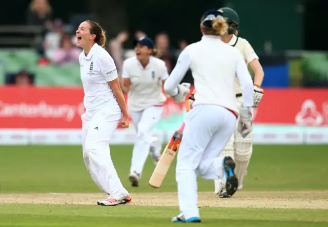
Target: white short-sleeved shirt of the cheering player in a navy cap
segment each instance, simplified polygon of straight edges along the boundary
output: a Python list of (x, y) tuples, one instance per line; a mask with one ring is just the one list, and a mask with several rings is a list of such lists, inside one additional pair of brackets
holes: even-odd
[(126, 59), (123, 63), (122, 78), (131, 81), (128, 93), (128, 108), (141, 111), (150, 106), (161, 106), (167, 100), (162, 93), (162, 81), (169, 77), (165, 61), (150, 56), (144, 68), (137, 57)]

